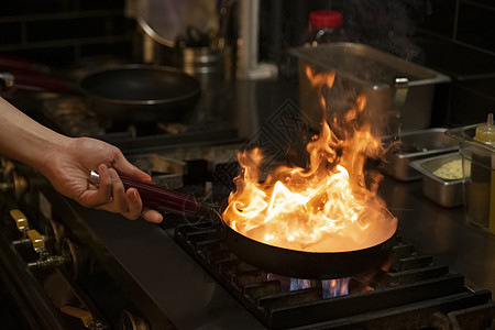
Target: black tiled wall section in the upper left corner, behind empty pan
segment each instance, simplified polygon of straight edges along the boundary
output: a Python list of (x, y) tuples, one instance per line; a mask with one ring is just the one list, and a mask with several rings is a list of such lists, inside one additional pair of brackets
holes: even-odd
[(132, 56), (135, 23), (125, 0), (4, 0), (0, 53), (59, 66), (86, 56)]

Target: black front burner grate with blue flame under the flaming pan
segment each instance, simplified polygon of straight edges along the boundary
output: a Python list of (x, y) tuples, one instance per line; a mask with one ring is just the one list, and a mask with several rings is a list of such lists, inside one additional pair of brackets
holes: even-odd
[[(252, 266), (222, 243), (219, 232), (207, 222), (183, 224), (175, 240), (268, 329), (453, 329), (472, 308), (492, 318), (488, 290), (466, 289), (462, 275), (400, 241), (380, 270), (320, 280)], [(454, 329), (473, 329), (462, 321)]]

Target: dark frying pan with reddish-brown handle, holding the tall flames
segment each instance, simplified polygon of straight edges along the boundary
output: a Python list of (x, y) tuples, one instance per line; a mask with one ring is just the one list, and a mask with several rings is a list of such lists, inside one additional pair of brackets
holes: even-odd
[[(367, 248), (345, 252), (307, 252), (268, 245), (250, 239), (226, 224), (219, 212), (202, 205), (194, 196), (152, 184), (121, 177), (125, 188), (134, 187), (143, 204), (180, 216), (208, 216), (219, 222), (226, 245), (243, 261), (266, 272), (293, 278), (330, 279), (376, 271), (388, 260), (396, 244), (396, 229), (385, 241)], [(215, 220), (215, 221), (217, 221)]]

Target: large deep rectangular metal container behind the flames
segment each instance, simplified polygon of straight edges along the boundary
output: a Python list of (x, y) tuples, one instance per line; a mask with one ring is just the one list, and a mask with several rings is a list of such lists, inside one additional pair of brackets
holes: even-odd
[[(355, 108), (358, 96), (366, 97), (364, 113), (377, 134), (427, 129), (436, 87), (450, 78), (376, 48), (355, 43), (331, 43), (290, 50), (298, 58), (300, 108), (316, 128)], [(316, 86), (308, 78), (334, 72), (333, 86)], [(326, 100), (322, 112), (321, 96)]]

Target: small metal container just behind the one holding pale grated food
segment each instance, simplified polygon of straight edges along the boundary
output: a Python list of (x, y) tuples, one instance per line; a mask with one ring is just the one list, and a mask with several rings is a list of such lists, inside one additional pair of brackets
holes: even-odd
[(406, 132), (400, 138), (382, 138), (386, 148), (385, 172), (403, 182), (420, 179), (421, 174), (409, 166), (410, 162), (459, 150), (459, 142), (446, 132), (447, 129), (433, 128)]

